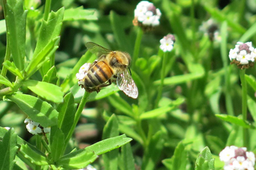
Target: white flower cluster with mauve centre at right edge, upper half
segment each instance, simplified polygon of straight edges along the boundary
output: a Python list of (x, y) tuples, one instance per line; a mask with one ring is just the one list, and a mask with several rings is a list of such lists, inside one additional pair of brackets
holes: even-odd
[(236, 47), (230, 50), (229, 58), (231, 63), (236, 63), (239, 69), (248, 69), (254, 66), (256, 49), (252, 42), (237, 42)]

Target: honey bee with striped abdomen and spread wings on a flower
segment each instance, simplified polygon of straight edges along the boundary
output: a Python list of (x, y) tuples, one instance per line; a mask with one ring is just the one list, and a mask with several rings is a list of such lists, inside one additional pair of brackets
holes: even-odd
[(84, 88), (88, 92), (97, 91), (103, 87), (116, 82), (116, 85), (127, 96), (138, 97), (138, 88), (129, 74), (131, 57), (128, 53), (121, 51), (111, 51), (95, 44), (87, 42), (86, 47), (91, 53), (95, 53), (98, 60), (91, 63), (84, 77)]

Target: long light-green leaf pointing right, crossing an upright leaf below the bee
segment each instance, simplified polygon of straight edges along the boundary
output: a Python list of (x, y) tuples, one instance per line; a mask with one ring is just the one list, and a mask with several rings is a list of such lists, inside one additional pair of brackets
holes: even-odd
[(91, 146), (86, 147), (86, 150), (93, 151), (96, 155), (102, 155), (105, 152), (115, 150), (116, 148), (121, 147), (131, 141), (131, 138), (128, 138), (125, 134), (123, 134), (120, 136), (102, 140), (100, 142), (97, 142), (96, 144), (92, 144)]

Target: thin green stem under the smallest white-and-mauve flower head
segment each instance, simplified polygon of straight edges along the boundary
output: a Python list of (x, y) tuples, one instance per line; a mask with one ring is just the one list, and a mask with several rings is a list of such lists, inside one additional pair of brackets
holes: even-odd
[(161, 83), (159, 85), (158, 94), (157, 94), (157, 100), (156, 100), (154, 108), (158, 107), (159, 100), (162, 97), (162, 88), (164, 86), (164, 80), (165, 80), (165, 66), (166, 66), (166, 62), (167, 62), (166, 61), (167, 60), (167, 55), (168, 55), (168, 52), (165, 52), (164, 55), (163, 55), (163, 58), (162, 58)]

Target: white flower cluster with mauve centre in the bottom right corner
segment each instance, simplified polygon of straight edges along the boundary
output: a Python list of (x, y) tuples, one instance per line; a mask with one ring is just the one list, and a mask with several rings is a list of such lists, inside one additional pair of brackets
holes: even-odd
[(219, 153), (219, 159), (225, 162), (224, 170), (254, 170), (255, 154), (246, 152), (246, 147), (225, 147)]

